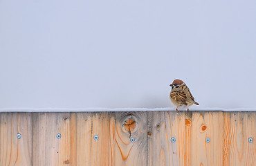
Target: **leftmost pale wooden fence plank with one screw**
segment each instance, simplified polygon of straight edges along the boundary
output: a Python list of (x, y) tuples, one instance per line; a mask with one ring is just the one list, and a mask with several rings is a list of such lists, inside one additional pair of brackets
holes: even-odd
[(0, 113), (0, 165), (31, 165), (31, 120), (31, 113)]

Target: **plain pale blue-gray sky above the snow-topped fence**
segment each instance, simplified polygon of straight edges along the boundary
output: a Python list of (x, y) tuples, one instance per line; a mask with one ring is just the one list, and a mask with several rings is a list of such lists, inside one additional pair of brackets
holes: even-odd
[(256, 1), (0, 1), (0, 107), (256, 108)]

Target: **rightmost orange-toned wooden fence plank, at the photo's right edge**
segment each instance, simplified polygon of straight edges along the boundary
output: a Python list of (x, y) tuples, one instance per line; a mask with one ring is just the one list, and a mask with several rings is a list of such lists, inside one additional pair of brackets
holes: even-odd
[(256, 112), (225, 112), (223, 139), (223, 165), (255, 165)]

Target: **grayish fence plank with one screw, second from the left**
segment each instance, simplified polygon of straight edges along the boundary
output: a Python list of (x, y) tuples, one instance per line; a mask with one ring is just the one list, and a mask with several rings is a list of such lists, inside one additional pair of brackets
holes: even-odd
[(70, 120), (70, 113), (34, 114), (33, 165), (70, 165)]

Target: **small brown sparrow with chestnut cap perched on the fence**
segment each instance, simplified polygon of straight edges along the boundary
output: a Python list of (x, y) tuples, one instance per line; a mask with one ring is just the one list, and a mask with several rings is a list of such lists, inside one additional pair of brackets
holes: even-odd
[[(176, 111), (178, 111), (178, 107), (180, 106), (188, 106), (190, 107), (192, 104), (199, 105), (194, 101), (194, 97), (192, 96), (190, 89), (185, 84), (185, 82), (176, 79), (170, 84), (172, 86), (172, 91), (170, 93), (170, 100), (174, 106), (176, 106)], [(188, 109), (188, 111), (190, 111)]]

